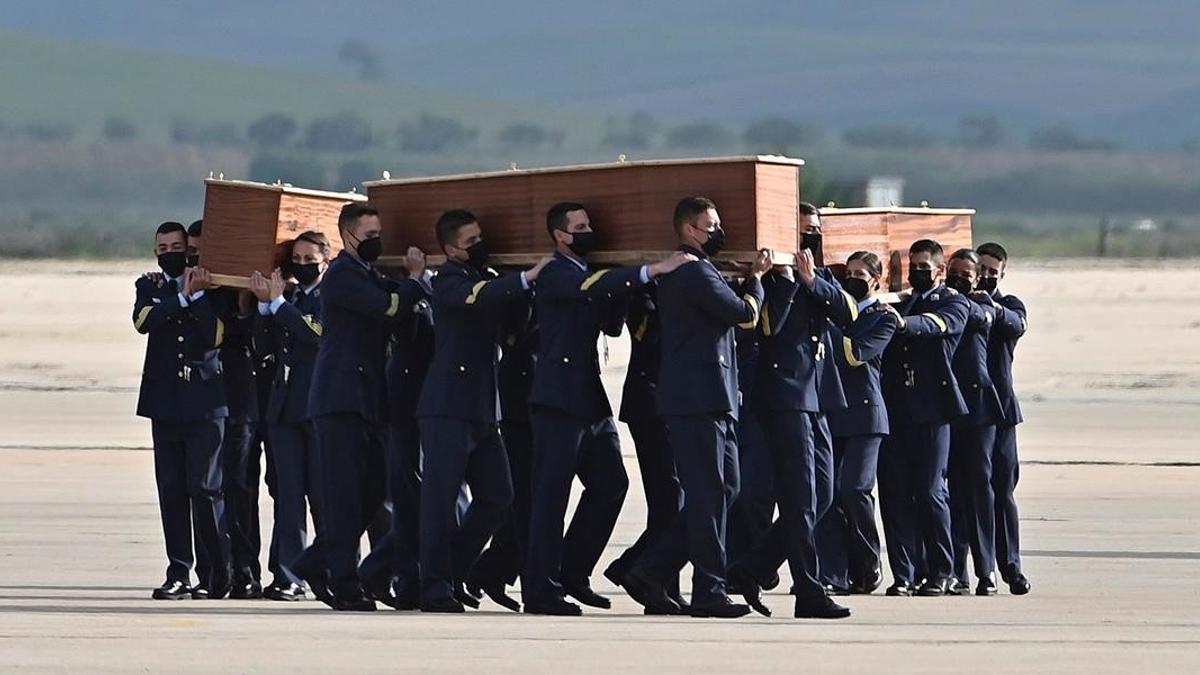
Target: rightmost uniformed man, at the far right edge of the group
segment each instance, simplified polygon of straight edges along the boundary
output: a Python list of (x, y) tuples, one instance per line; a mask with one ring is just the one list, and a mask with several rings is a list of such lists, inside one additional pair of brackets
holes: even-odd
[(979, 289), (990, 299), (996, 312), (988, 338), (988, 372), (1000, 396), (1001, 419), (996, 424), (996, 442), (991, 449), (991, 482), (996, 509), (996, 560), (1000, 577), (1015, 596), (1030, 592), (1030, 580), (1021, 572), (1021, 539), (1016, 512), (1016, 479), (1020, 464), (1016, 456), (1016, 425), (1022, 422), (1021, 406), (1013, 389), (1013, 352), (1025, 335), (1027, 313), (1025, 303), (1016, 295), (1000, 291), (1000, 281), (1008, 270), (1008, 251), (995, 243), (976, 249), (983, 274)]

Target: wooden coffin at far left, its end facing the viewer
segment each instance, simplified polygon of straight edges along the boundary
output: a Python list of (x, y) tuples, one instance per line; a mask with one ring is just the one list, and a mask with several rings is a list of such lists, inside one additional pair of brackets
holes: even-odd
[(200, 265), (222, 286), (246, 287), (254, 270), (269, 274), (290, 256), (288, 244), (310, 229), (325, 233), (337, 253), (342, 249), (337, 233), (342, 205), (367, 199), (355, 192), (305, 190), (288, 184), (214, 178), (204, 184)]

